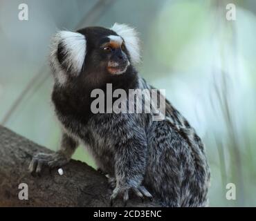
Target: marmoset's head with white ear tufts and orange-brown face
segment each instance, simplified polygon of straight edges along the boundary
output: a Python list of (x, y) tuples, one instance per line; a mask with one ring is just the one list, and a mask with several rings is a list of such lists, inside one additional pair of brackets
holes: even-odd
[(51, 67), (60, 84), (81, 74), (122, 75), (139, 60), (136, 31), (126, 25), (60, 31), (51, 45)]

